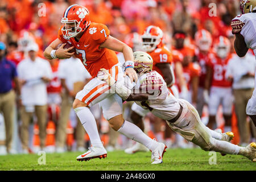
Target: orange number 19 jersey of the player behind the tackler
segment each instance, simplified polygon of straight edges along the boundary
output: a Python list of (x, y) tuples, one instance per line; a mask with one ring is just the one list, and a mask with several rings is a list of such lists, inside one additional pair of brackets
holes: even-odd
[(162, 63), (171, 64), (172, 63), (171, 52), (168, 50), (168, 48), (166, 46), (162, 46), (162, 47), (156, 48), (152, 52), (148, 52), (148, 54), (153, 59), (152, 70), (158, 72), (163, 77), (162, 71), (156, 66), (156, 64), (162, 64)]

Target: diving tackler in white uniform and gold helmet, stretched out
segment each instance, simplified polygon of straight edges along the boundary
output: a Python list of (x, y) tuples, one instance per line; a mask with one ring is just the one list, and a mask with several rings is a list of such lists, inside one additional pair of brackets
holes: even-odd
[[(200, 146), (205, 151), (216, 151), (224, 154), (243, 155), (256, 162), (256, 143), (240, 147), (229, 143), (233, 133), (217, 133), (210, 130), (200, 120), (195, 107), (188, 101), (175, 98), (167, 89), (163, 77), (152, 71), (152, 57), (146, 52), (134, 52), (135, 71), (138, 73), (137, 84), (126, 79), (116, 82), (105, 70), (101, 78), (114, 86), (115, 92), (126, 101), (135, 101), (144, 109), (149, 109), (156, 117), (166, 120), (172, 130), (185, 139)], [(145, 67), (146, 65), (146, 67)]]

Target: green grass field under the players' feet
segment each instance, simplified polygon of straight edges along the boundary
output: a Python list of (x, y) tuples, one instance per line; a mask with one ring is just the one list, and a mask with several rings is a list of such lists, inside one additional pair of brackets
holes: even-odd
[(108, 152), (105, 159), (92, 159), (78, 162), (80, 152), (46, 154), (46, 164), (39, 165), (37, 154), (0, 156), (0, 171), (171, 171), (171, 170), (246, 170), (256, 171), (256, 163), (240, 155), (221, 156), (217, 153), (216, 164), (209, 164), (209, 152), (194, 149), (168, 149), (163, 163), (151, 164), (151, 152), (138, 152), (133, 155), (123, 151)]

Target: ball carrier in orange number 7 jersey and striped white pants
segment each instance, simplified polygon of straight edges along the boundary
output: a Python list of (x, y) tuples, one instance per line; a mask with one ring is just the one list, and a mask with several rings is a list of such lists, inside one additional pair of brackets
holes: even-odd
[[(89, 11), (84, 6), (69, 6), (64, 11), (61, 23), (63, 26), (59, 30), (58, 38), (45, 49), (44, 56), (47, 59), (67, 59), (75, 55), (92, 76), (92, 80), (76, 94), (76, 99), (73, 102), (73, 109), (92, 143), (92, 147), (89, 147), (84, 154), (77, 156), (77, 160), (106, 157), (107, 152), (100, 140), (95, 118), (89, 110), (90, 106), (101, 101), (104, 117), (109, 121), (110, 126), (115, 131), (144, 144), (151, 150), (153, 164), (162, 163), (162, 158), (159, 159), (159, 155), (163, 154), (166, 146), (152, 140), (133, 123), (124, 121), (122, 99), (115, 94), (114, 88), (110, 88), (104, 81), (97, 78), (100, 76), (98, 75), (100, 69), (105, 68), (117, 81), (129, 76), (131, 82), (137, 82), (138, 76), (133, 69), (132, 49), (110, 36), (108, 27), (104, 24), (90, 22)], [(59, 44), (61, 46), (57, 48)], [(64, 49), (65, 44), (71, 44), (72, 47)], [(75, 52), (69, 52), (73, 48), (75, 48)], [(114, 51), (123, 52), (126, 60), (125, 73), (122, 72)]]

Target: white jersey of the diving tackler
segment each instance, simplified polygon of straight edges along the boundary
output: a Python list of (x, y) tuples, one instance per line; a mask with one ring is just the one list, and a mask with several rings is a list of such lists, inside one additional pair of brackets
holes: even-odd
[[(163, 85), (158, 90), (159, 84)], [(169, 92), (163, 77), (156, 71), (151, 71), (138, 77), (137, 84), (134, 86), (135, 93), (136, 90), (143, 90), (146, 87), (148, 92), (155, 90), (154, 94), (150, 96), (149, 100), (136, 101), (136, 104), (144, 109), (149, 109), (156, 117), (166, 120), (174, 118), (180, 109), (179, 101)]]

